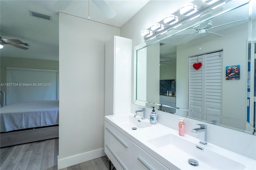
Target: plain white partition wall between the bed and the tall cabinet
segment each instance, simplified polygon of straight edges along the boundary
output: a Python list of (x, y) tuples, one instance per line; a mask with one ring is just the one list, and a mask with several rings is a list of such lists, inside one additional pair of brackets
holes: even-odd
[(104, 156), (105, 42), (120, 29), (59, 14), (58, 169)]

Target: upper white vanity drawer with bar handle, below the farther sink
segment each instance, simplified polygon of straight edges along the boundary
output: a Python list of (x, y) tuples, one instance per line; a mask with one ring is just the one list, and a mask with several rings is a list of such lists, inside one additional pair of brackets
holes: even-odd
[(104, 134), (120, 155), (132, 165), (132, 141), (106, 121)]

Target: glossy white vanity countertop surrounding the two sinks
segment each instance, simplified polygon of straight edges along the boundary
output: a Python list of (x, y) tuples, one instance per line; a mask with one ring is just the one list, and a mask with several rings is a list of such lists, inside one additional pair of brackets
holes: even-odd
[[(148, 154), (153, 156), (156, 160), (164, 164), (167, 168), (168, 167), (173, 167), (176, 166), (179, 169), (191, 169), (191, 170), (199, 170), (199, 169), (251, 169), (255, 170), (256, 169), (256, 160), (248, 158), (246, 156), (237, 154), (235, 152), (232, 152), (230, 150), (221, 148), (219, 146), (216, 146), (214, 144), (208, 143), (207, 145), (203, 145), (199, 143), (199, 139), (195, 138), (193, 136), (190, 136), (188, 134), (185, 134), (185, 136), (180, 136), (178, 134), (177, 130), (174, 130), (172, 128), (166, 127), (164, 125), (161, 125), (157, 123), (156, 125), (152, 125), (150, 127), (146, 128), (140, 128), (137, 130), (132, 130), (132, 128), (122, 128), (122, 125), (120, 125), (120, 122), (112, 119), (114, 117), (128, 117), (128, 116), (134, 116), (132, 113), (125, 113), (125, 114), (120, 114), (120, 115), (110, 115), (110, 116), (105, 116), (105, 121), (110, 123), (112, 126), (117, 128), (122, 134), (127, 136), (132, 142), (137, 144), (140, 148), (145, 150)], [(143, 121), (145, 123), (149, 124), (148, 119), (142, 120), (140, 116), (137, 116), (135, 119), (140, 119), (140, 121)], [(168, 135), (168, 134), (173, 134), (179, 138), (188, 140), (189, 142), (192, 142), (194, 146), (200, 146), (204, 148), (204, 150), (209, 150), (212, 152), (216, 152), (217, 154), (220, 154), (227, 160), (235, 161), (237, 163), (237, 166), (234, 167), (228, 167), (227, 165), (222, 165), (216, 162), (214, 165), (208, 165), (205, 163), (204, 160), (207, 158), (207, 152), (204, 152), (206, 155), (204, 158), (196, 158), (196, 160), (199, 162), (198, 166), (191, 166), (188, 164), (188, 159), (193, 157), (190, 154), (186, 153), (186, 150), (184, 148), (188, 146), (184, 146), (184, 148), (180, 149), (178, 147), (162, 147), (159, 146), (158, 144), (152, 144), (149, 141), (152, 139), (155, 139), (160, 136)], [(199, 151), (202, 152), (202, 151)], [(204, 154), (202, 153), (202, 154)], [(195, 159), (195, 158), (194, 158)], [(210, 161), (214, 161), (215, 158), (209, 158), (211, 159)], [(216, 159), (215, 159), (216, 160)]]

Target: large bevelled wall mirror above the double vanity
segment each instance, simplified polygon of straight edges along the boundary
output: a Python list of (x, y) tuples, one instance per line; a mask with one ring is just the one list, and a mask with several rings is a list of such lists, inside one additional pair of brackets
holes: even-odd
[(225, 2), (136, 49), (134, 104), (255, 134), (256, 7)]

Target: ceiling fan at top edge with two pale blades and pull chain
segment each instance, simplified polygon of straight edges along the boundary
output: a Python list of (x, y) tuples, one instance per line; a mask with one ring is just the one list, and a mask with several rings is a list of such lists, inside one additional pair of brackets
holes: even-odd
[[(116, 12), (112, 10), (112, 8), (106, 3), (105, 0), (88, 0), (88, 19), (90, 20), (89, 16), (89, 1), (92, 1), (106, 16), (106, 18), (114, 18), (116, 16)], [(58, 10), (65, 10), (69, 4), (72, 2), (72, 0), (58, 0), (55, 4), (54, 7)]]

